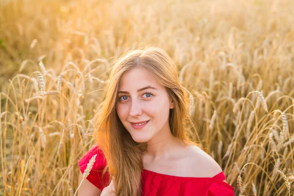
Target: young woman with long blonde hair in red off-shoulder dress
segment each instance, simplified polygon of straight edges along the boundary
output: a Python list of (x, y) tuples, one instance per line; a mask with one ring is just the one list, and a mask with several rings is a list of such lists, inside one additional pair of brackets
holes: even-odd
[[(162, 49), (131, 50), (111, 69), (79, 196), (234, 196), (219, 164), (192, 142), (189, 96)], [(111, 176), (111, 177), (110, 177)]]

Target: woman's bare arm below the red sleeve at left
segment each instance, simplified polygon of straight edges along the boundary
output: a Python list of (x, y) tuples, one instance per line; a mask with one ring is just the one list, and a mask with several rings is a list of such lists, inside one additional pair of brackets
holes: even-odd
[[(79, 184), (83, 179), (83, 174), (80, 172), (79, 174)], [(101, 190), (94, 186), (89, 180), (84, 179), (80, 188), (78, 189), (77, 196), (100, 196)]]

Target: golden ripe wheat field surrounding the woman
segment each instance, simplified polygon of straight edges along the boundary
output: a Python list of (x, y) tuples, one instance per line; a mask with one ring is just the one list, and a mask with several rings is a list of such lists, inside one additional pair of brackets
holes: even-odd
[(197, 142), (235, 194), (293, 195), (293, 10), (293, 0), (0, 1), (0, 195), (74, 195), (107, 71), (149, 44), (178, 64)]

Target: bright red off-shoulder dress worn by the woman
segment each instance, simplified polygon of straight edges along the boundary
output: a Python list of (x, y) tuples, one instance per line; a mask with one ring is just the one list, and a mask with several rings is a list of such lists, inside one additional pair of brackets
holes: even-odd
[[(102, 171), (106, 166), (104, 154), (98, 146), (92, 147), (78, 165), (83, 173), (93, 155), (96, 161), (87, 179), (98, 189), (103, 190)], [(105, 174), (107, 184), (109, 174)], [(234, 188), (223, 182), (223, 172), (214, 177), (179, 177), (144, 170), (142, 172), (142, 196), (235, 196)]]

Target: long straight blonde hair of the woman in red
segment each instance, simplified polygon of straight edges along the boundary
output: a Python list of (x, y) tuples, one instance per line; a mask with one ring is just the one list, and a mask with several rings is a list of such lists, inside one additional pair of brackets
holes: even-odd
[[(116, 107), (118, 88), (124, 73), (133, 68), (147, 70), (162, 84), (175, 106), (170, 109), (169, 123), (172, 135), (186, 143), (193, 143), (193, 134), (186, 128), (189, 96), (178, 80), (178, 69), (171, 57), (156, 47), (130, 50), (114, 62), (97, 114), (95, 138), (103, 150), (109, 175), (115, 177), (119, 196), (141, 195), (142, 154), (146, 144), (135, 142), (121, 123)], [(104, 170), (104, 173), (106, 171)], [(111, 179), (110, 179), (111, 180)]]

